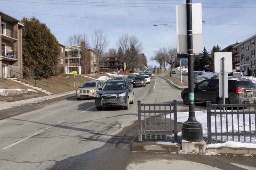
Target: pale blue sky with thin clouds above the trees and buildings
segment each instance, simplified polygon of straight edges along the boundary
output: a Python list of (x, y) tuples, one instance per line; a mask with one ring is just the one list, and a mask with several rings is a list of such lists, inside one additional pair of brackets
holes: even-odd
[[(103, 30), (110, 38), (109, 48), (122, 34), (135, 35), (143, 44), (148, 65), (157, 65), (150, 57), (161, 47), (176, 47), (176, 5), (186, 0), (0, 0), (0, 11), (21, 20), (35, 16), (45, 23), (57, 40), (65, 43), (73, 34)], [(221, 49), (253, 36), (256, 0), (192, 0), (202, 3), (203, 47)], [(157, 65), (158, 66), (158, 65)]]

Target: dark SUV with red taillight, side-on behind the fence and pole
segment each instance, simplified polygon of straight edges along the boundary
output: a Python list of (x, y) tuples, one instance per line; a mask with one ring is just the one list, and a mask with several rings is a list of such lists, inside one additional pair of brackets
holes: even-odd
[[(184, 104), (189, 103), (188, 88), (181, 92)], [(219, 97), (219, 79), (210, 78), (201, 81), (194, 88), (195, 102), (211, 101), (211, 103), (222, 104), (223, 99)], [(229, 78), (228, 98), (226, 104), (249, 104), (256, 103), (256, 85), (248, 79)]]

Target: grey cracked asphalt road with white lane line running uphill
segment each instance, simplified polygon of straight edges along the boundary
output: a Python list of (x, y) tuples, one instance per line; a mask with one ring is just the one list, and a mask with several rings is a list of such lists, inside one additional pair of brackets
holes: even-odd
[[(135, 101), (166, 103), (177, 100), (178, 111), (188, 111), (180, 90), (158, 76), (151, 80), (144, 88), (134, 88)], [(205, 104), (195, 107), (196, 110), (206, 109)], [(0, 120), (1, 170), (151, 169), (161, 161), (166, 161), (166, 164), (159, 166), (171, 167), (172, 162), (185, 159), (189, 162), (180, 163), (187, 167), (191, 163), (204, 169), (217, 167), (209, 156), (200, 155), (195, 159), (192, 154), (130, 152), (131, 142), (137, 134), (136, 102), (130, 105), (129, 110), (109, 108), (97, 111), (93, 99), (77, 101), (75, 95), (69, 95), (2, 110), (0, 115), (9, 115), (9, 118)], [(242, 157), (239, 160), (244, 160), (248, 166), (255, 164), (255, 158)], [(229, 162), (225, 164), (223, 161), (221, 169), (230, 167)], [(179, 166), (176, 167), (178, 169)], [(232, 169), (236, 169), (234, 167), (237, 166)]]

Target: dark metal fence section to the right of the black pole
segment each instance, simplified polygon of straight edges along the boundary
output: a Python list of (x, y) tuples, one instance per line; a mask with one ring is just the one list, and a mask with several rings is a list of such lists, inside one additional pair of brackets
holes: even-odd
[(212, 140), (255, 142), (255, 124), (256, 104), (217, 105), (207, 102), (208, 144)]

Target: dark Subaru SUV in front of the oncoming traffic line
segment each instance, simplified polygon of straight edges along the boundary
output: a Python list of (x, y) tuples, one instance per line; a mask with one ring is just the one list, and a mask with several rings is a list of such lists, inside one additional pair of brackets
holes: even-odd
[(124, 107), (129, 109), (134, 102), (133, 86), (129, 80), (106, 81), (95, 97), (97, 110), (103, 107)]

